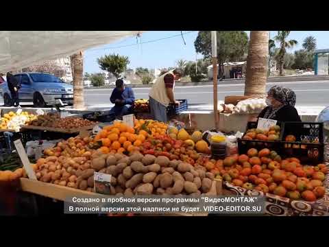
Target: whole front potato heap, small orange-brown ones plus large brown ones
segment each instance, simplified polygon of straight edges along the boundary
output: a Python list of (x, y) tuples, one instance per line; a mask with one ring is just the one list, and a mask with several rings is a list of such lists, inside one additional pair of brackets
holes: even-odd
[(216, 195), (214, 175), (199, 165), (169, 161), (166, 156), (134, 153), (101, 154), (68, 158), (49, 156), (36, 165), (38, 180), (94, 191), (94, 172), (111, 174), (111, 195)]

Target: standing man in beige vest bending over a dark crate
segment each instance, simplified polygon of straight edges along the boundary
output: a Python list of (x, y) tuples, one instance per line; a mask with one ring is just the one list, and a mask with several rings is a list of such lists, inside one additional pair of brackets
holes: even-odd
[(169, 104), (180, 104), (180, 102), (175, 101), (173, 89), (175, 89), (175, 80), (179, 80), (181, 77), (182, 71), (174, 69), (154, 80), (154, 85), (149, 93), (149, 108), (155, 120), (167, 122)]

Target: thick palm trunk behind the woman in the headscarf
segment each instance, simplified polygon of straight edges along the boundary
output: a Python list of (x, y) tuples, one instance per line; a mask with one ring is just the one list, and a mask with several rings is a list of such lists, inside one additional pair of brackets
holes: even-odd
[(251, 31), (247, 56), (245, 96), (264, 96), (269, 57), (269, 32)]

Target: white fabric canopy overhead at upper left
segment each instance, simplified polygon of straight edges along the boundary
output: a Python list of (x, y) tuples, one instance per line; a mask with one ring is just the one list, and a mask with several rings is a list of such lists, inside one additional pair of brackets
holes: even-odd
[(70, 56), (140, 31), (1, 31), (0, 72)]

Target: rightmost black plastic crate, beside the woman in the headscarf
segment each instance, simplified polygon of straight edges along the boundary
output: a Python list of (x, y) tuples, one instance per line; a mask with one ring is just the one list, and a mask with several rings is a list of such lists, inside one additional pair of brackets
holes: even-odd
[[(282, 154), (300, 158), (301, 163), (324, 162), (324, 124), (314, 122), (285, 122), (282, 139), (293, 134), (295, 142), (282, 141)], [(303, 140), (310, 141), (309, 143)], [(312, 143), (318, 141), (317, 143)]]

